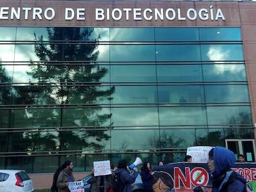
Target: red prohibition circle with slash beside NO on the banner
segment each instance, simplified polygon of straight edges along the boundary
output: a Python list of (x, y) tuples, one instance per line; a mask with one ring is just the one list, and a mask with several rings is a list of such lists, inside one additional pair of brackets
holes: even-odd
[(206, 186), (208, 183), (208, 180), (209, 180), (209, 175), (204, 168), (196, 167), (196, 168), (193, 168), (193, 170), (191, 171), (191, 182), (194, 186)]

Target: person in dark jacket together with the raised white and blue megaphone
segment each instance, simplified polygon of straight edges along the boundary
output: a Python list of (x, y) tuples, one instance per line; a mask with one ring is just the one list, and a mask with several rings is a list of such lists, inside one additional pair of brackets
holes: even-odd
[(115, 179), (113, 182), (114, 192), (132, 191), (132, 184), (135, 182), (138, 176), (138, 169), (136, 166), (141, 163), (142, 161), (138, 157), (130, 166), (127, 166), (127, 161), (124, 159), (118, 162), (117, 170), (115, 170)]

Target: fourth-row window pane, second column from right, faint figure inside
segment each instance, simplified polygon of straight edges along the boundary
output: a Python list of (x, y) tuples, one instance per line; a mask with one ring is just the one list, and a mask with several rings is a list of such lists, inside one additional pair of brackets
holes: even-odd
[(204, 86), (158, 86), (159, 102), (204, 102)]

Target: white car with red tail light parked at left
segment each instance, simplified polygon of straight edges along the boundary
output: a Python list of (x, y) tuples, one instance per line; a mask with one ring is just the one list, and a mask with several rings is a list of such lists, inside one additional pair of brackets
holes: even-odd
[(0, 192), (32, 192), (33, 182), (25, 171), (0, 170)]

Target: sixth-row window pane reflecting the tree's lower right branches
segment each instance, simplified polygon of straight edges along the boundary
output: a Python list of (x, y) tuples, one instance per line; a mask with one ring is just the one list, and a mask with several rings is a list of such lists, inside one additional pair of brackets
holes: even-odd
[(109, 131), (63, 131), (60, 137), (61, 150), (110, 149)]

